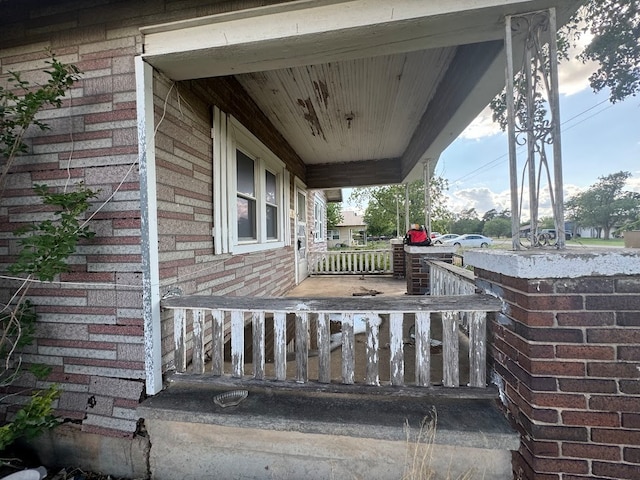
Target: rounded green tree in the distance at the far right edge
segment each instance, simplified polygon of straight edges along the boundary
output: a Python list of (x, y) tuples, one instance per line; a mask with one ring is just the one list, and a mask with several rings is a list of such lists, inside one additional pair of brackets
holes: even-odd
[(565, 208), (570, 218), (583, 227), (598, 229), (598, 238), (608, 239), (611, 229), (640, 213), (640, 194), (623, 190), (630, 172), (617, 172), (604, 177), (582, 193), (569, 199)]

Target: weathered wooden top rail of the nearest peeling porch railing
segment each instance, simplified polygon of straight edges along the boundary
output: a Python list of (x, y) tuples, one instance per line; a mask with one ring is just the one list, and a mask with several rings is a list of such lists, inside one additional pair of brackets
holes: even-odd
[(414, 312), (499, 312), (502, 302), (495, 297), (476, 294), (458, 296), (407, 297), (228, 297), (189, 295), (162, 300), (163, 308), (189, 308), (242, 312), (306, 311), (310, 313), (414, 313)]

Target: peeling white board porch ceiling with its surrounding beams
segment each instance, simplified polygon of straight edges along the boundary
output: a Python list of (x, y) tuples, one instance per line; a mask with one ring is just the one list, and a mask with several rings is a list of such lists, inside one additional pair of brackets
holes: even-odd
[[(579, 0), (294, 1), (142, 29), (175, 80), (235, 75), (307, 166), (310, 188), (432, 173), (504, 85), (504, 17)], [(469, 159), (473, 162), (475, 159)]]

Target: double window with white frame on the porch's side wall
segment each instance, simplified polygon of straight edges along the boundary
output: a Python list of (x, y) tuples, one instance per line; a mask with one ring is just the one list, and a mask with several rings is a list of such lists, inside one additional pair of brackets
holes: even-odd
[(214, 109), (214, 245), (248, 253), (290, 243), (284, 163), (232, 117)]

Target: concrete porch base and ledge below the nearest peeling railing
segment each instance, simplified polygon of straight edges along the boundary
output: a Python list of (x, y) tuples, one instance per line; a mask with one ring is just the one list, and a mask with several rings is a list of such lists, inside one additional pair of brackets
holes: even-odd
[(512, 478), (518, 435), (492, 399), (263, 389), (221, 408), (220, 391), (172, 385), (139, 408), (154, 480)]

